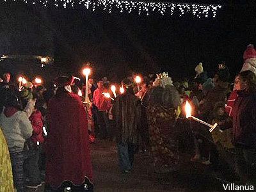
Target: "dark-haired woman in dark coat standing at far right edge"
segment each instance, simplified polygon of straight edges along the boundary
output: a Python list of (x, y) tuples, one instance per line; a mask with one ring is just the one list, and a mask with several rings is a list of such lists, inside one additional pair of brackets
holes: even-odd
[(256, 173), (256, 76), (250, 70), (243, 71), (235, 84), (238, 97), (232, 122), (226, 120), (225, 128), (233, 128), (236, 171), (241, 180), (250, 182)]

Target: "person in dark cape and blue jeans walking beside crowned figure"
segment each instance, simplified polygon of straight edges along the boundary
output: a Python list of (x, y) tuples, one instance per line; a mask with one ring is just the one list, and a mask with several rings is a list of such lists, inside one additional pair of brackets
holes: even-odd
[(134, 159), (136, 144), (141, 127), (140, 100), (134, 95), (133, 83), (124, 79), (125, 93), (116, 97), (113, 113), (116, 122), (116, 140), (120, 168), (123, 173), (130, 173)]

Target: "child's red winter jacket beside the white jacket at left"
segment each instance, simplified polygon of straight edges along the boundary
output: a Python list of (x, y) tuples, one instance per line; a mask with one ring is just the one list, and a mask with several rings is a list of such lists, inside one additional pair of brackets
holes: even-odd
[(39, 143), (44, 143), (43, 121), (42, 121), (41, 112), (38, 110), (33, 111), (32, 115), (29, 117), (29, 120), (33, 128), (33, 134), (31, 136), (31, 140), (35, 144), (37, 144), (37, 141)]

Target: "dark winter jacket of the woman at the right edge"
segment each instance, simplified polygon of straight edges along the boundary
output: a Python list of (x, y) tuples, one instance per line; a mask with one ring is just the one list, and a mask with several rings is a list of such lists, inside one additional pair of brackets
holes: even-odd
[(244, 90), (238, 97), (232, 111), (234, 145), (245, 148), (256, 147), (256, 93)]

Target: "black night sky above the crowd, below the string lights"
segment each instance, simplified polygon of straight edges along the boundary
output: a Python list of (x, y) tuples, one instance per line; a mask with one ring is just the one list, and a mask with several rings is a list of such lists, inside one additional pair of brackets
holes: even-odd
[[(8, 30), (4, 29), (4, 33), (14, 30), (12, 33), (16, 35), (13, 36), (17, 38), (15, 31), (19, 31), (17, 42), (24, 40), (24, 36), (34, 36), (26, 42), (19, 42), (16, 52), (24, 52), (24, 45), (31, 45), (26, 49), (26, 54), (29, 50), (35, 51), (35, 44), (40, 42), (42, 34), (44, 38), (47, 36), (44, 33), (38, 35), (38, 31), (49, 31), (52, 41), (47, 42), (45, 47), (49, 51), (49, 47), (53, 46), (55, 69), (52, 70), (58, 68), (59, 74), (78, 76), (84, 63), (90, 62), (95, 79), (107, 76), (116, 81), (132, 72), (147, 75), (168, 71), (174, 80), (182, 80), (195, 76), (194, 68), (199, 62), (212, 76), (218, 63), (225, 61), (234, 76), (243, 65), (246, 45), (256, 42), (256, 3), (200, 3), (220, 3), (223, 7), (215, 18), (199, 19), (191, 13), (179, 17), (179, 13), (163, 16), (154, 12), (147, 16), (136, 12), (119, 13), (116, 10), (108, 13), (100, 8), (92, 12), (79, 6), (75, 9), (45, 9), (13, 3), (1, 6), (1, 19), (3, 10), (5, 20), (10, 19), (6, 15), (12, 15), (13, 23), (8, 24)], [(15, 15), (20, 10), (24, 16), (22, 19), (19, 14)], [(17, 24), (16, 20), (22, 20), (23, 24)], [(16, 26), (15, 29), (12, 29), (12, 24)], [(22, 27), (24, 25), (26, 28)], [(5, 26), (2, 24), (1, 28)], [(8, 45), (17, 47), (13, 43)], [(19, 49), (21, 45), (23, 48)]]

